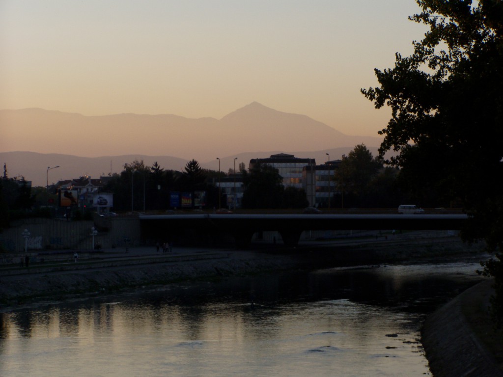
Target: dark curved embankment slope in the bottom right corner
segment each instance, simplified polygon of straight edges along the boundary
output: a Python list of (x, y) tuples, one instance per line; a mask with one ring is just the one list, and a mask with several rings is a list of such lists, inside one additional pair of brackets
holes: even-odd
[(503, 331), (495, 331), (487, 307), (492, 280), (466, 290), (430, 315), (422, 342), (435, 377), (503, 376)]

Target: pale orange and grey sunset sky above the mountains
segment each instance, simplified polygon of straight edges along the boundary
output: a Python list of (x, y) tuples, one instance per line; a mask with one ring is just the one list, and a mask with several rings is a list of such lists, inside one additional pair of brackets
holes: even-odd
[(412, 51), (413, 0), (0, 0), (0, 109), (226, 114), (257, 101), (348, 135), (389, 111), (360, 88)]

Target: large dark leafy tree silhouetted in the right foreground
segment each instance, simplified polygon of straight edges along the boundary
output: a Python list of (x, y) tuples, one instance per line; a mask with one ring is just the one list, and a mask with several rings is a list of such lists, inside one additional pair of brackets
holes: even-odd
[(498, 260), (485, 264), (495, 277), (492, 298), (503, 323), (503, 2), (417, 0), (410, 19), (429, 27), (412, 55), (396, 54), (393, 68), (375, 70), (379, 86), (362, 89), (392, 116), (380, 131), (383, 155), (416, 193), (437, 192), (462, 201), (471, 216), (463, 236), (484, 238)]

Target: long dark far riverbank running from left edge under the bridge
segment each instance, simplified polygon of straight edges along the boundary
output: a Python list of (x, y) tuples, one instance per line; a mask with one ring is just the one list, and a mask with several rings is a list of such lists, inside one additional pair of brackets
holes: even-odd
[(44, 299), (99, 295), (146, 285), (211, 279), (292, 268), (380, 264), (415, 259), (441, 260), (451, 255), (478, 253), (445, 232), (367, 235), (310, 241), (296, 248), (256, 244), (255, 249), (175, 248), (162, 253), (155, 247), (73, 250), (32, 256), (29, 267), (18, 263), (0, 268), (0, 310)]

